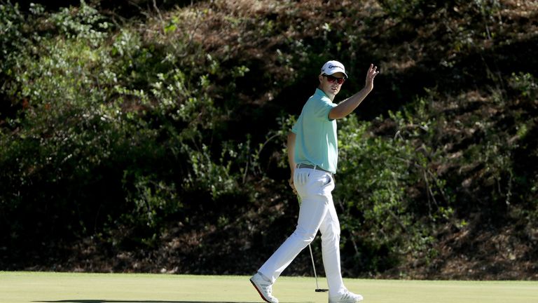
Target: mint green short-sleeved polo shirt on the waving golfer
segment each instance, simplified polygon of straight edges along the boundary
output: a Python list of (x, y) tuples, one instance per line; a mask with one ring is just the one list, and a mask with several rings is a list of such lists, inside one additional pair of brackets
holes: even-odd
[(329, 119), (329, 112), (336, 107), (327, 95), (320, 90), (303, 107), (291, 131), (295, 138), (295, 162), (319, 166), (336, 173), (338, 164), (338, 140), (336, 120)]

